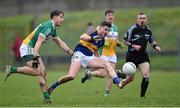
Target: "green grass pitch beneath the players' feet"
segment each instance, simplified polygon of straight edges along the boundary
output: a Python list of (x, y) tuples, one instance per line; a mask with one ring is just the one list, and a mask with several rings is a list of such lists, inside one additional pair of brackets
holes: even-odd
[[(49, 71), (48, 85), (65, 74), (65, 71)], [(80, 83), (81, 71), (77, 78), (58, 87), (51, 95), (51, 105), (42, 104), (42, 94), (37, 77), (12, 75), (7, 82), (0, 73), (0, 107), (180, 107), (179, 72), (152, 71), (146, 98), (139, 97), (141, 76), (123, 90), (113, 86), (109, 97), (103, 96), (105, 78), (93, 78)]]

